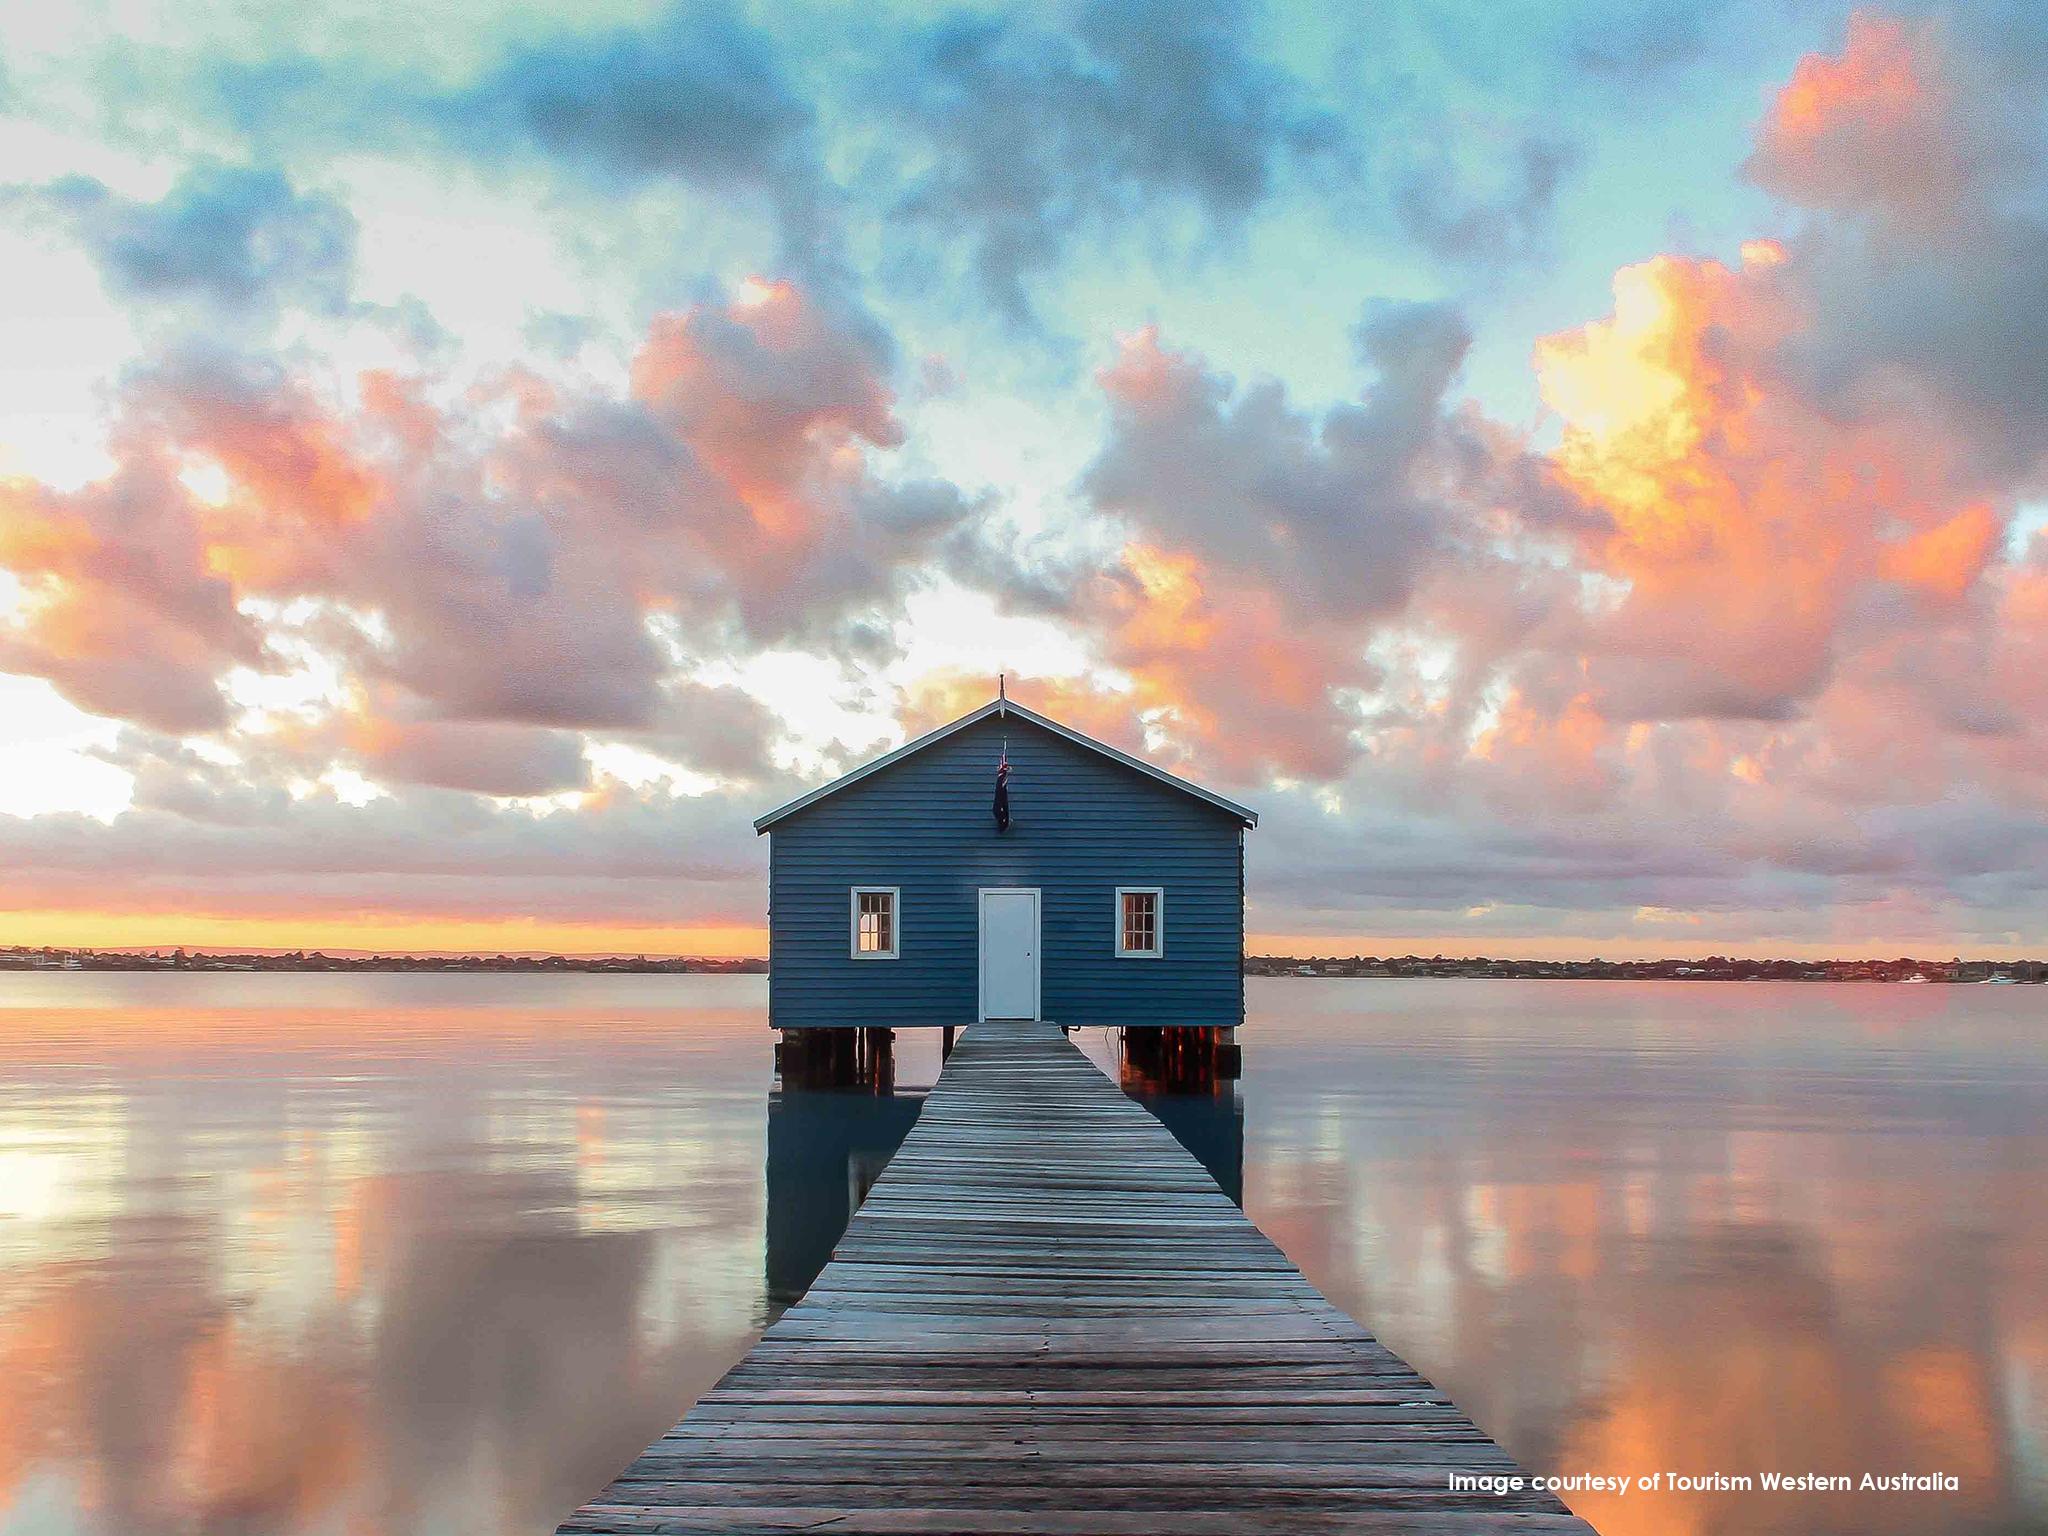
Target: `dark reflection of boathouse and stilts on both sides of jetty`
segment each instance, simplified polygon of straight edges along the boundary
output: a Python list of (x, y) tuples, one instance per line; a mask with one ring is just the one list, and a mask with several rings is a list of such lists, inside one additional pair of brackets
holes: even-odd
[[(1159, 1034), (1122, 1032), (1116, 1053), (1122, 1090), (1243, 1204), (1245, 1108), (1237, 1085), (1212, 1071), (1206, 1081), (1161, 1071)], [(854, 1085), (805, 1087), (801, 1073), (784, 1071), (768, 1092), (770, 1315), (811, 1288), (846, 1223), (918, 1122), (926, 1090), (895, 1087), (891, 1047), (889, 1038), (872, 1042), (852, 1063), (846, 1075)]]

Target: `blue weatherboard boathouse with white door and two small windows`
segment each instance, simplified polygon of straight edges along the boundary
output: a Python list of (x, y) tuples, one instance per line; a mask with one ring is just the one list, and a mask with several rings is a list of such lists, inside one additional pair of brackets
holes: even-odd
[(1255, 825), (995, 698), (754, 823), (768, 1022), (1235, 1028)]

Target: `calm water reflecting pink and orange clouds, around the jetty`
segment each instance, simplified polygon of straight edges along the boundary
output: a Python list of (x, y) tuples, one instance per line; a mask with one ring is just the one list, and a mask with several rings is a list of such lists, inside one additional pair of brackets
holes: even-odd
[[(764, 999), (0, 975), (0, 1532), (551, 1530), (938, 1069), (772, 1092)], [(1610, 1536), (2048, 1530), (2048, 989), (1253, 981), (1239, 1094), (1157, 1112), (1524, 1462), (1962, 1479)]]

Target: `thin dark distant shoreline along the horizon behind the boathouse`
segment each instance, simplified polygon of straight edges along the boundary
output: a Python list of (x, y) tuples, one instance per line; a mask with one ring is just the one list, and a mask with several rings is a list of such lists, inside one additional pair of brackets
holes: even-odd
[[(768, 961), (702, 954), (330, 954), (326, 950), (174, 950), (0, 946), (0, 971), (469, 973), (469, 975), (768, 975)], [(1890, 981), (2048, 983), (2048, 961), (1495, 961), (1487, 956), (1247, 954), (1249, 977), (1499, 981)]]

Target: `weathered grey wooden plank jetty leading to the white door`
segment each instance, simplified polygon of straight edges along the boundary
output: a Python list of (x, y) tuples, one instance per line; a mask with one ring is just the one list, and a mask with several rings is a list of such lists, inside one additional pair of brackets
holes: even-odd
[(1577, 1532), (1057, 1024), (971, 1026), (831, 1264), (563, 1534)]

